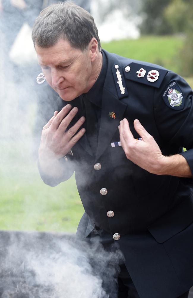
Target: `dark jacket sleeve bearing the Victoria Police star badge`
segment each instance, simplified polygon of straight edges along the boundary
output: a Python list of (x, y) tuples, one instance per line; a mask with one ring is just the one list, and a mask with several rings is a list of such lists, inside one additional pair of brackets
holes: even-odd
[[(161, 138), (181, 152), (193, 174), (193, 92), (188, 83), (168, 72), (162, 85), (155, 90), (154, 116)], [(178, 152), (176, 152), (178, 153)]]

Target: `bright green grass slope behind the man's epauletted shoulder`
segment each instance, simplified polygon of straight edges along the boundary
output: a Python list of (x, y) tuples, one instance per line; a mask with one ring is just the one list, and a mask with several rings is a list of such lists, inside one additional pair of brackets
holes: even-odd
[(183, 38), (180, 37), (143, 36), (136, 40), (102, 43), (102, 48), (123, 57), (159, 64), (179, 73), (178, 51), (183, 44)]

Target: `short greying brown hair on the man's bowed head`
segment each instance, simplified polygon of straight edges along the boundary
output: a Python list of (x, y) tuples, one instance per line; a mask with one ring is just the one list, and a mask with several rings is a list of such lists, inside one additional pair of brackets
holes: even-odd
[(62, 38), (72, 47), (84, 51), (93, 37), (97, 39), (101, 52), (94, 18), (72, 1), (46, 7), (37, 17), (32, 30), (34, 46), (42, 48), (54, 46)]

